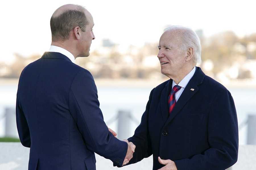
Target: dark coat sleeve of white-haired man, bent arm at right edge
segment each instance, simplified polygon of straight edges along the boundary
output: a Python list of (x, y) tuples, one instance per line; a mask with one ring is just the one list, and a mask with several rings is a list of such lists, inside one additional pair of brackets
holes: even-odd
[(234, 100), (227, 89), (215, 96), (208, 117), (210, 148), (190, 159), (174, 161), (178, 170), (227, 169), (238, 159), (238, 122)]

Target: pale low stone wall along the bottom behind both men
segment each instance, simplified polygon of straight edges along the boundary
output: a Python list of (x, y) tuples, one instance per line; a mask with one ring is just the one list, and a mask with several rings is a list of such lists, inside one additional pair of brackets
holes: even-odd
[[(29, 148), (19, 142), (0, 142), (0, 169), (1, 170), (27, 170)], [(121, 170), (152, 169), (152, 156), (143, 159), (133, 165), (121, 168)], [(96, 169), (116, 170), (113, 163), (96, 154)], [(255, 170), (256, 169), (256, 145), (239, 146), (238, 162), (231, 167), (232, 170)]]

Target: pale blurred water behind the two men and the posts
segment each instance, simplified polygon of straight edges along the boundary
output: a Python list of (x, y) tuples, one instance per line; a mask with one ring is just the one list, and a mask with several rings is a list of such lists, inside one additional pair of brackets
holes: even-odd
[[(130, 110), (136, 122), (140, 122), (145, 110), (151, 87), (98, 86), (100, 109), (108, 126), (117, 131), (117, 121), (111, 121), (120, 109)], [(238, 115), (238, 125), (247, 119), (247, 114), (256, 114), (256, 88), (228, 88), (231, 92)], [(5, 133), (5, 119), (2, 118), (5, 107), (15, 107), (17, 85), (0, 85), (0, 136)], [(138, 124), (131, 121), (131, 130), (127, 137), (133, 135)], [(247, 126), (239, 130), (239, 144), (246, 144)]]

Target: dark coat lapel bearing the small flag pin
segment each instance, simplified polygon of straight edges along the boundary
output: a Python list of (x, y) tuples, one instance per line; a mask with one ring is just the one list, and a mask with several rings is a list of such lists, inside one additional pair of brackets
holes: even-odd
[[(174, 119), (174, 117), (179, 113), (179, 111), (185, 106), (185, 104), (191, 99), (191, 97), (197, 93), (197, 91), (199, 90), (198, 85), (203, 82), (204, 77), (205, 74), (203, 73), (201, 68), (197, 67), (197, 71), (195, 72), (194, 76), (191, 78), (191, 80), (185, 87), (184, 91), (179, 97), (179, 100), (177, 101), (174, 109), (172, 110), (164, 126), (170, 123)], [(194, 90), (191, 90), (191, 88), (193, 88)], [(168, 102), (166, 101), (166, 103)]]

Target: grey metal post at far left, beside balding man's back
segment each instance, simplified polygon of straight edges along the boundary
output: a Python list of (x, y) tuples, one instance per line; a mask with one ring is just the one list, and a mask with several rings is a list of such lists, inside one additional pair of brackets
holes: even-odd
[(13, 107), (5, 108), (5, 136), (18, 138), (16, 115)]

